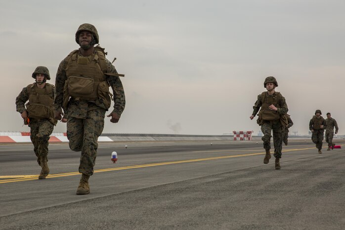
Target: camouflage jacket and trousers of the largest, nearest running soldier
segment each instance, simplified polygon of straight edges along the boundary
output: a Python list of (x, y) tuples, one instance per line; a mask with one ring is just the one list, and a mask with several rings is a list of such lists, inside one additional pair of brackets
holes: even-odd
[[(96, 55), (96, 51), (91, 55), (91, 59)], [(83, 57), (80, 51), (78, 57)], [(78, 58), (77, 57), (77, 58)], [(63, 108), (67, 117), (67, 138), (69, 146), (73, 151), (82, 151), (80, 158), (79, 172), (91, 176), (97, 155), (97, 139), (101, 135), (104, 127), (105, 112), (108, 110), (106, 101), (102, 98), (96, 100), (83, 100), (71, 97), (67, 107), (63, 107), (64, 86), (67, 80), (66, 69), (68, 68), (67, 56), (61, 61), (56, 73), (55, 81), (55, 101), (56, 111), (62, 112)], [(106, 61), (106, 72), (117, 74), (115, 67)], [(125, 92), (121, 80), (117, 76), (106, 76), (106, 80), (113, 90), (114, 109), (113, 112), (121, 116), (125, 109)]]

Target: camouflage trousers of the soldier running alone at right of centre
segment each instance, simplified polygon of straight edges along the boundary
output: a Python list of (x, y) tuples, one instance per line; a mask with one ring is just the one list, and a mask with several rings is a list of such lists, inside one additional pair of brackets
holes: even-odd
[(263, 137), (263, 148), (271, 149), (271, 131), (273, 131), (273, 143), (274, 143), (274, 157), (282, 157), (282, 144), (283, 144), (283, 128), (279, 120), (265, 121), (261, 125), (261, 132)]

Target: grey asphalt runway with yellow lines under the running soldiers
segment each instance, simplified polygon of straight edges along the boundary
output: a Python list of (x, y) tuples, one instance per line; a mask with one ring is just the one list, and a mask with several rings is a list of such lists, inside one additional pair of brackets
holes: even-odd
[(256, 142), (100, 143), (88, 195), (67, 143), (49, 145), (45, 180), (32, 144), (0, 145), (0, 230), (345, 229), (343, 149), (290, 140), (274, 170)]

